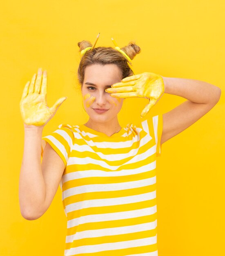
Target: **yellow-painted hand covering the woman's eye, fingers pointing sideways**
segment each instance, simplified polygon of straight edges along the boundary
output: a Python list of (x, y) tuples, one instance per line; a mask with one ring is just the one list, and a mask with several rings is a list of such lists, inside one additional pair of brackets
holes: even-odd
[(120, 83), (114, 83), (105, 91), (117, 98), (143, 97), (149, 99), (149, 103), (140, 114), (141, 117), (144, 117), (163, 95), (164, 90), (163, 76), (144, 72), (127, 76)]

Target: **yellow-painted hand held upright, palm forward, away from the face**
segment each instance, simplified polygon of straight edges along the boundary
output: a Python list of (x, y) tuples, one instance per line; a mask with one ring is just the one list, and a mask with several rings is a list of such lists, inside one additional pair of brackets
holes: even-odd
[(67, 97), (61, 97), (49, 108), (47, 106), (47, 70), (38, 69), (38, 76), (34, 74), (31, 83), (28, 81), (20, 100), (20, 112), (25, 127), (44, 127), (56, 114), (59, 106)]

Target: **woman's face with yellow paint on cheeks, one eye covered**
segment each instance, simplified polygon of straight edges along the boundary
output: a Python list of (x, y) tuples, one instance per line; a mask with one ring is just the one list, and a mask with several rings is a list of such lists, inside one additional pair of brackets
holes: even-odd
[[(122, 98), (111, 97), (105, 89), (121, 81), (119, 68), (115, 64), (93, 64), (85, 68), (82, 97), (85, 111), (96, 122), (105, 123), (115, 118), (123, 106)], [(95, 111), (94, 109), (107, 111)]]

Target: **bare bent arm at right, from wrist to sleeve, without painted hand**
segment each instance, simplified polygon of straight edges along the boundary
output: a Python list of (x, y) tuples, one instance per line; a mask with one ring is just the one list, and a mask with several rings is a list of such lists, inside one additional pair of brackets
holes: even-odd
[(221, 89), (210, 83), (193, 79), (163, 77), (165, 93), (187, 99), (163, 114), (161, 144), (176, 136), (203, 117), (219, 101)]

